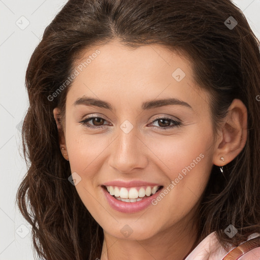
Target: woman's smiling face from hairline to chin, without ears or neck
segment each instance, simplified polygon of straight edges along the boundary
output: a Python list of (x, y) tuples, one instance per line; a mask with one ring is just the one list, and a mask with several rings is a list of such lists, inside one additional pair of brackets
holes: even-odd
[(190, 62), (161, 45), (113, 41), (87, 49), (75, 69), (64, 138), (75, 188), (104, 232), (148, 239), (192, 219), (214, 144)]

